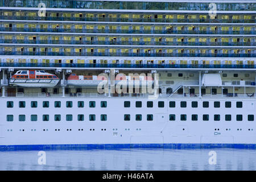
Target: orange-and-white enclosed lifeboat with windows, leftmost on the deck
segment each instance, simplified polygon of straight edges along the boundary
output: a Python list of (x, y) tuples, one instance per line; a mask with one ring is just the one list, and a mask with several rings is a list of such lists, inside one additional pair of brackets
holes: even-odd
[(51, 73), (38, 70), (20, 70), (11, 76), (9, 84), (24, 87), (53, 87), (60, 79)]

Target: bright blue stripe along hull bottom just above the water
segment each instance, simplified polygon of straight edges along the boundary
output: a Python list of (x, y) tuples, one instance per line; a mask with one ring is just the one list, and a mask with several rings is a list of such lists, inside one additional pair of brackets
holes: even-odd
[(0, 146), (0, 151), (15, 151), (15, 150), (90, 150), (90, 149), (105, 149), (112, 150), (118, 148), (256, 148), (256, 144), (227, 144), (227, 143), (138, 143), (138, 144), (33, 144), (33, 145), (6, 145)]

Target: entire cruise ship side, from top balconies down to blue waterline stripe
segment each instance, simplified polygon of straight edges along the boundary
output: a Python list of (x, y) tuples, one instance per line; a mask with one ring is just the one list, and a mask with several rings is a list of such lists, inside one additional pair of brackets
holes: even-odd
[(254, 147), (255, 14), (249, 0), (1, 1), (0, 148)]

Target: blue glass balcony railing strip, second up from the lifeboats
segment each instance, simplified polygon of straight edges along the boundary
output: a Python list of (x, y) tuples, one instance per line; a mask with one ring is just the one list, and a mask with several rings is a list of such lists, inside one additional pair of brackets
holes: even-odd
[(23, 56), (131, 56), (131, 57), (256, 57), (256, 53), (121, 53), (121, 52), (29, 52), (0, 51), (0, 55)]

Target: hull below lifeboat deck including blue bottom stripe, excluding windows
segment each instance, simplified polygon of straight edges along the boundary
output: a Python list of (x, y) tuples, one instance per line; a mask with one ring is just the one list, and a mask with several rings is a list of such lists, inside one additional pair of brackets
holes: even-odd
[[(204, 114), (209, 109), (175, 109), (169, 107), (151, 109), (129, 109), (123, 108), (126, 98), (82, 98), (83, 101), (96, 101), (96, 107), (88, 108), (63, 108), (61, 111), (61, 121), (54, 121), (54, 115), (60, 113), (59, 109), (51, 106), (56, 101), (61, 101), (63, 105), (67, 101), (77, 102), (81, 98), (47, 98), (49, 108), (41, 110), (31, 108), (22, 109), (26, 118), (31, 114), (38, 114), (38, 121), (20, 122), (18, 114), (14, 115), (13, 122), (5, 122), (0, 125), (0, 149), (1, 150), (20, 150), (20, 149), (47, 149), (47, 148), (120, 148), (120, 147), (255, 147), (256, 136), (253, 122), (226, 122), (213, 121), (169, 121), (168, 115), (193, 114), (195, 111)], [(12, 109), (5, 108), (6, 101), (10, 98), (2, 98), (1, 110), (3, 113), (11, 114)], [(11, 98), (14, 105), (18, 105), (20, 98)], [(43, 102), (46, 98), (37, 98), (36, 101)], [(108, 102), (107, 108), (101, 108), (100, 102)], [(196, 99), (199, 104), (213, 99)], [(218, 99), (221, 103), (226, 99)], [(26, 102), (35, 101), (35, 98), (26, 98)], [(130, 98), (131, 104), (138, 101), (138, 98)], [(148, 99), (139, 98), (144, 105)], [(158, 101), (176, 101), (158, 99)], [(192, 101), (187, 99), (187, 101)], [(195, 101), (195, 98), (193, 98)], [(232, 102), (237, 99), (232, 100)], [(233, 109), (234, 113), (251, 114), (254, 112), (254, 99), (241, 99), (245, 109)], [(167, 102), (166, 102), (167, 104)], [(97, 110), (97, 112), (96, 112)], [(42, 121), (42, 115), (49, 113), (49, 121)], [(142, 114), (142, 121), (123, 121), (123, 115), (130, 113), (131, 117), (135, 114)], [(218, 109), (218, 113), (230, 113), (230, 110)], [(73, 121), (65, 121), (65, 114), (73, 114)], [(85, 114), (84, 121), (77, 121), (78, 114)], [(96, 121), (89, 121), (89, 114), (108, 114), (107, 121), (100, 121), (100, 114), (96, 114)], [(146, 121), (146, 114), (153, 114), (154, 121)], [(209, 113), (210, 114), (210, 113)], [(5, 114), (1, 115), (1, 120), (5, 120)]]

